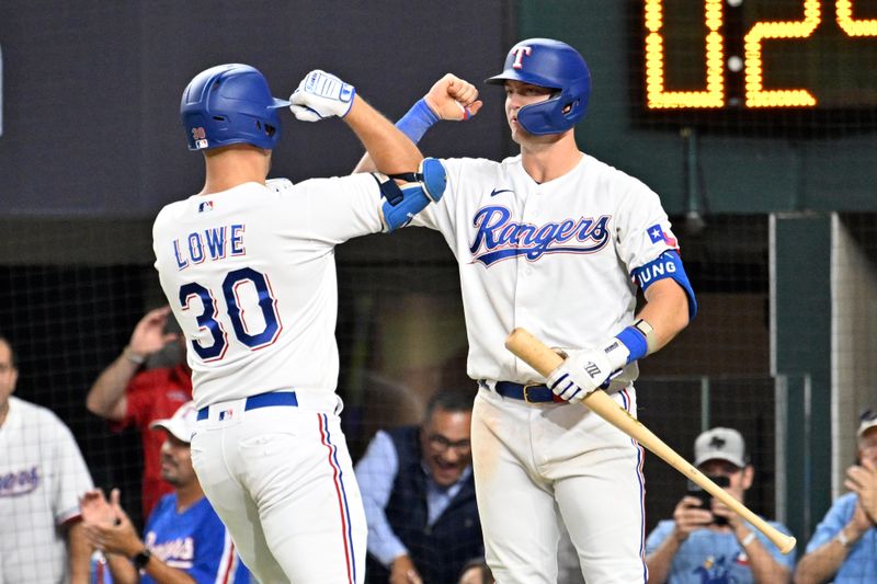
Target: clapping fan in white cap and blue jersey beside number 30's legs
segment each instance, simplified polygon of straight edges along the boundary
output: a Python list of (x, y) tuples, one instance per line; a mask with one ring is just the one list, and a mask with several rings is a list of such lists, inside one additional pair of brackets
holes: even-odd
[(100, 489), (80, 500), (86, 535), (106, 557), (115, 583), (250, 582), (235, 545), (210, 506), (192, 468), (190, 442), (197, 411), (180, 406), (151, 430), (164, 431), (161, 477), (173, 486), (156, 505), (140, 539), (119, 506), (118, 489), (110, 501)]

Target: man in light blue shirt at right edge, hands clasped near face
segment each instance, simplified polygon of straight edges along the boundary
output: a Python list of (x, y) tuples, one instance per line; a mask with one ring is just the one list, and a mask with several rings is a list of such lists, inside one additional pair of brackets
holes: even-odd
[(858, 463), (846, 469), (850, 492), (828, 511), (807, 543), (796, 584), (877, 582), (877, 412), (862, 414)]

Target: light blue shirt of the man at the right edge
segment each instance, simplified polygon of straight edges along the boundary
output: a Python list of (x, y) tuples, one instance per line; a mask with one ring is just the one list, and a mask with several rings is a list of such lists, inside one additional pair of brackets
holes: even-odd
[[(807, 543), (807, 553), (831, 541), (853, 518), (857, 503), (858, 495), (856, 493), (846, 493), (839, 497), (816, 526), (813, 537)], [(853, 543), (841, 569), (834, 576), (834, 584), (859, 584), (862, 582), (877, 582), (877, 527), (865, 531), (862, 538)]]

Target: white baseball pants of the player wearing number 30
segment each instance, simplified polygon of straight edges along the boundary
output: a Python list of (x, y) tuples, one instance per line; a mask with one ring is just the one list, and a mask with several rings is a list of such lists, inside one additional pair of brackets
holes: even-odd
[(192, 463), (260, 582), (362, 584), (367, 528), (341, 400), (297, 398), (297, 406), (210, 405), (192, 438)]

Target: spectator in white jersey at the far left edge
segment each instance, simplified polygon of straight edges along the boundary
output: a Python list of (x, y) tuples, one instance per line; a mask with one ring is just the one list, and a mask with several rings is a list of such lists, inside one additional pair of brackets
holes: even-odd
[(84, 584), (91, 549), (78, 496), (91, 476), (70, 430), (12, 396), (19, 369), (0, 336), (0, 582)]

